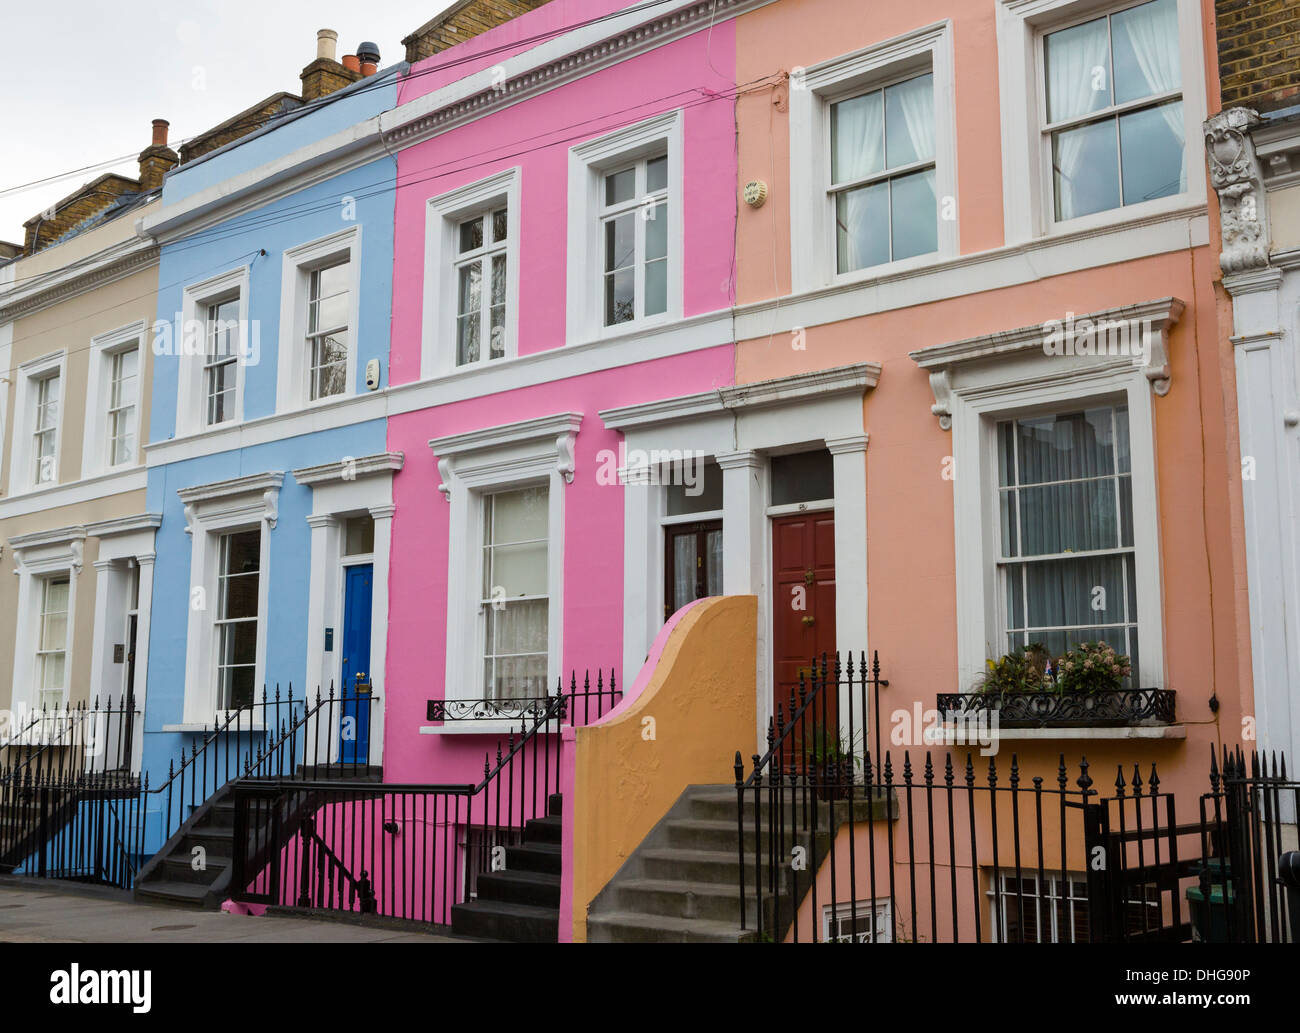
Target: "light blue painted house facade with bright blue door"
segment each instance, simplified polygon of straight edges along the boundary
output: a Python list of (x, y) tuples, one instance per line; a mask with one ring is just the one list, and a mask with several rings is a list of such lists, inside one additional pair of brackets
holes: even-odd
[[(395, 162), (378, 116), (403, 70), (183, 165), (138, 226), (160, 246), (146, 446), (147, 509), (161, 516), (153, 786), (228, 721), (254, 724), (254, 755), (277, 742), (302, 720), (290, 691), (382, 695), (402, 457), (385, 451)], [(359, 734), (377, 763), (382, 704), (330, 711), (311, 732), (320, 761), (356, 759)]]

